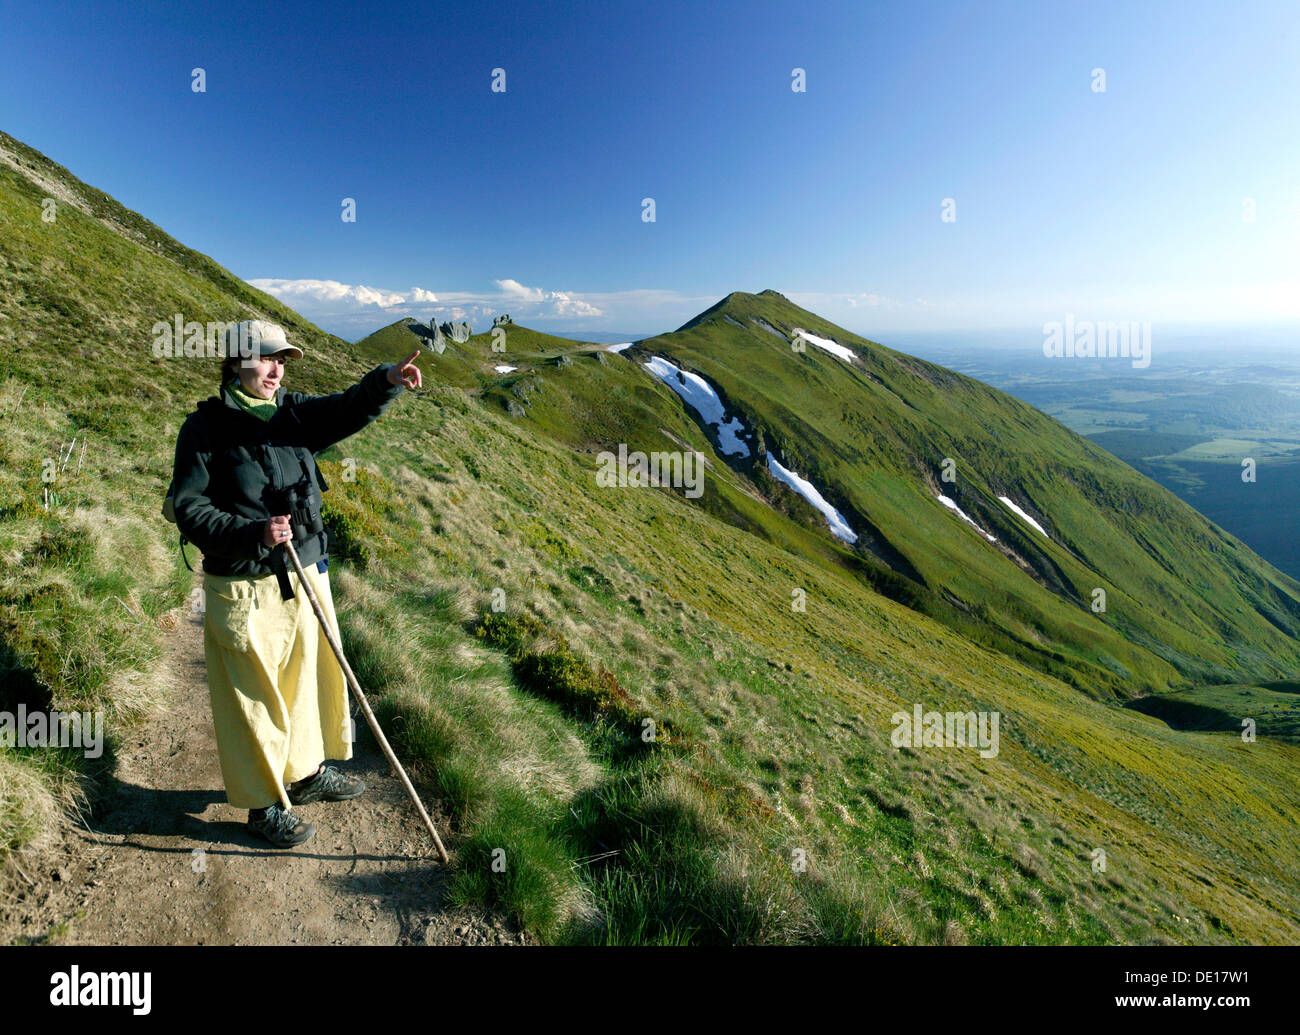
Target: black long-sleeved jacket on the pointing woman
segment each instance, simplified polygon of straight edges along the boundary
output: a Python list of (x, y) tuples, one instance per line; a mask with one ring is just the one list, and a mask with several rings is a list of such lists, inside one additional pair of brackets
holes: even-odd
[[(320, 511), (328, 486), (316, 454), (361, 430), (406, 391), (387, 380), (394, 365), (376, 367), (335, 395), (281, 387), (266, 421), (240, 410), (225, 390), (199, 403), (177, 436), (172, 491), (176, 523), (203, 551), (205, 572), (283, 572), (285, 551), (263, 542), (266, 521), (287, 512), (283, 493), (295, 484)], [(295, 534), (294, 549), (304, 567), (315, 564), (326, 557), (325, 533), (306, 541)]]

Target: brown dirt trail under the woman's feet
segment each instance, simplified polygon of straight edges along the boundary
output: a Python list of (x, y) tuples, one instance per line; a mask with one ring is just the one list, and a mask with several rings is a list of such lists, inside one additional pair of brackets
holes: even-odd
[[(358, 719), (355, 801), (299, 811), (316, 836), (287, 852), (226, 804), (203, 662), (203, 620), (165, 633), (165, 710), (125, 744), (94, 815), (0, 880), (0, 944), (521, 944), (499, 917), (445, 905), (446, 871)], [(446, 818), (412, 778), (446, 840)], [(452, 859), (452, 865), (455, 861)], [(29, 879), (35, 887), (29, 884)]]

